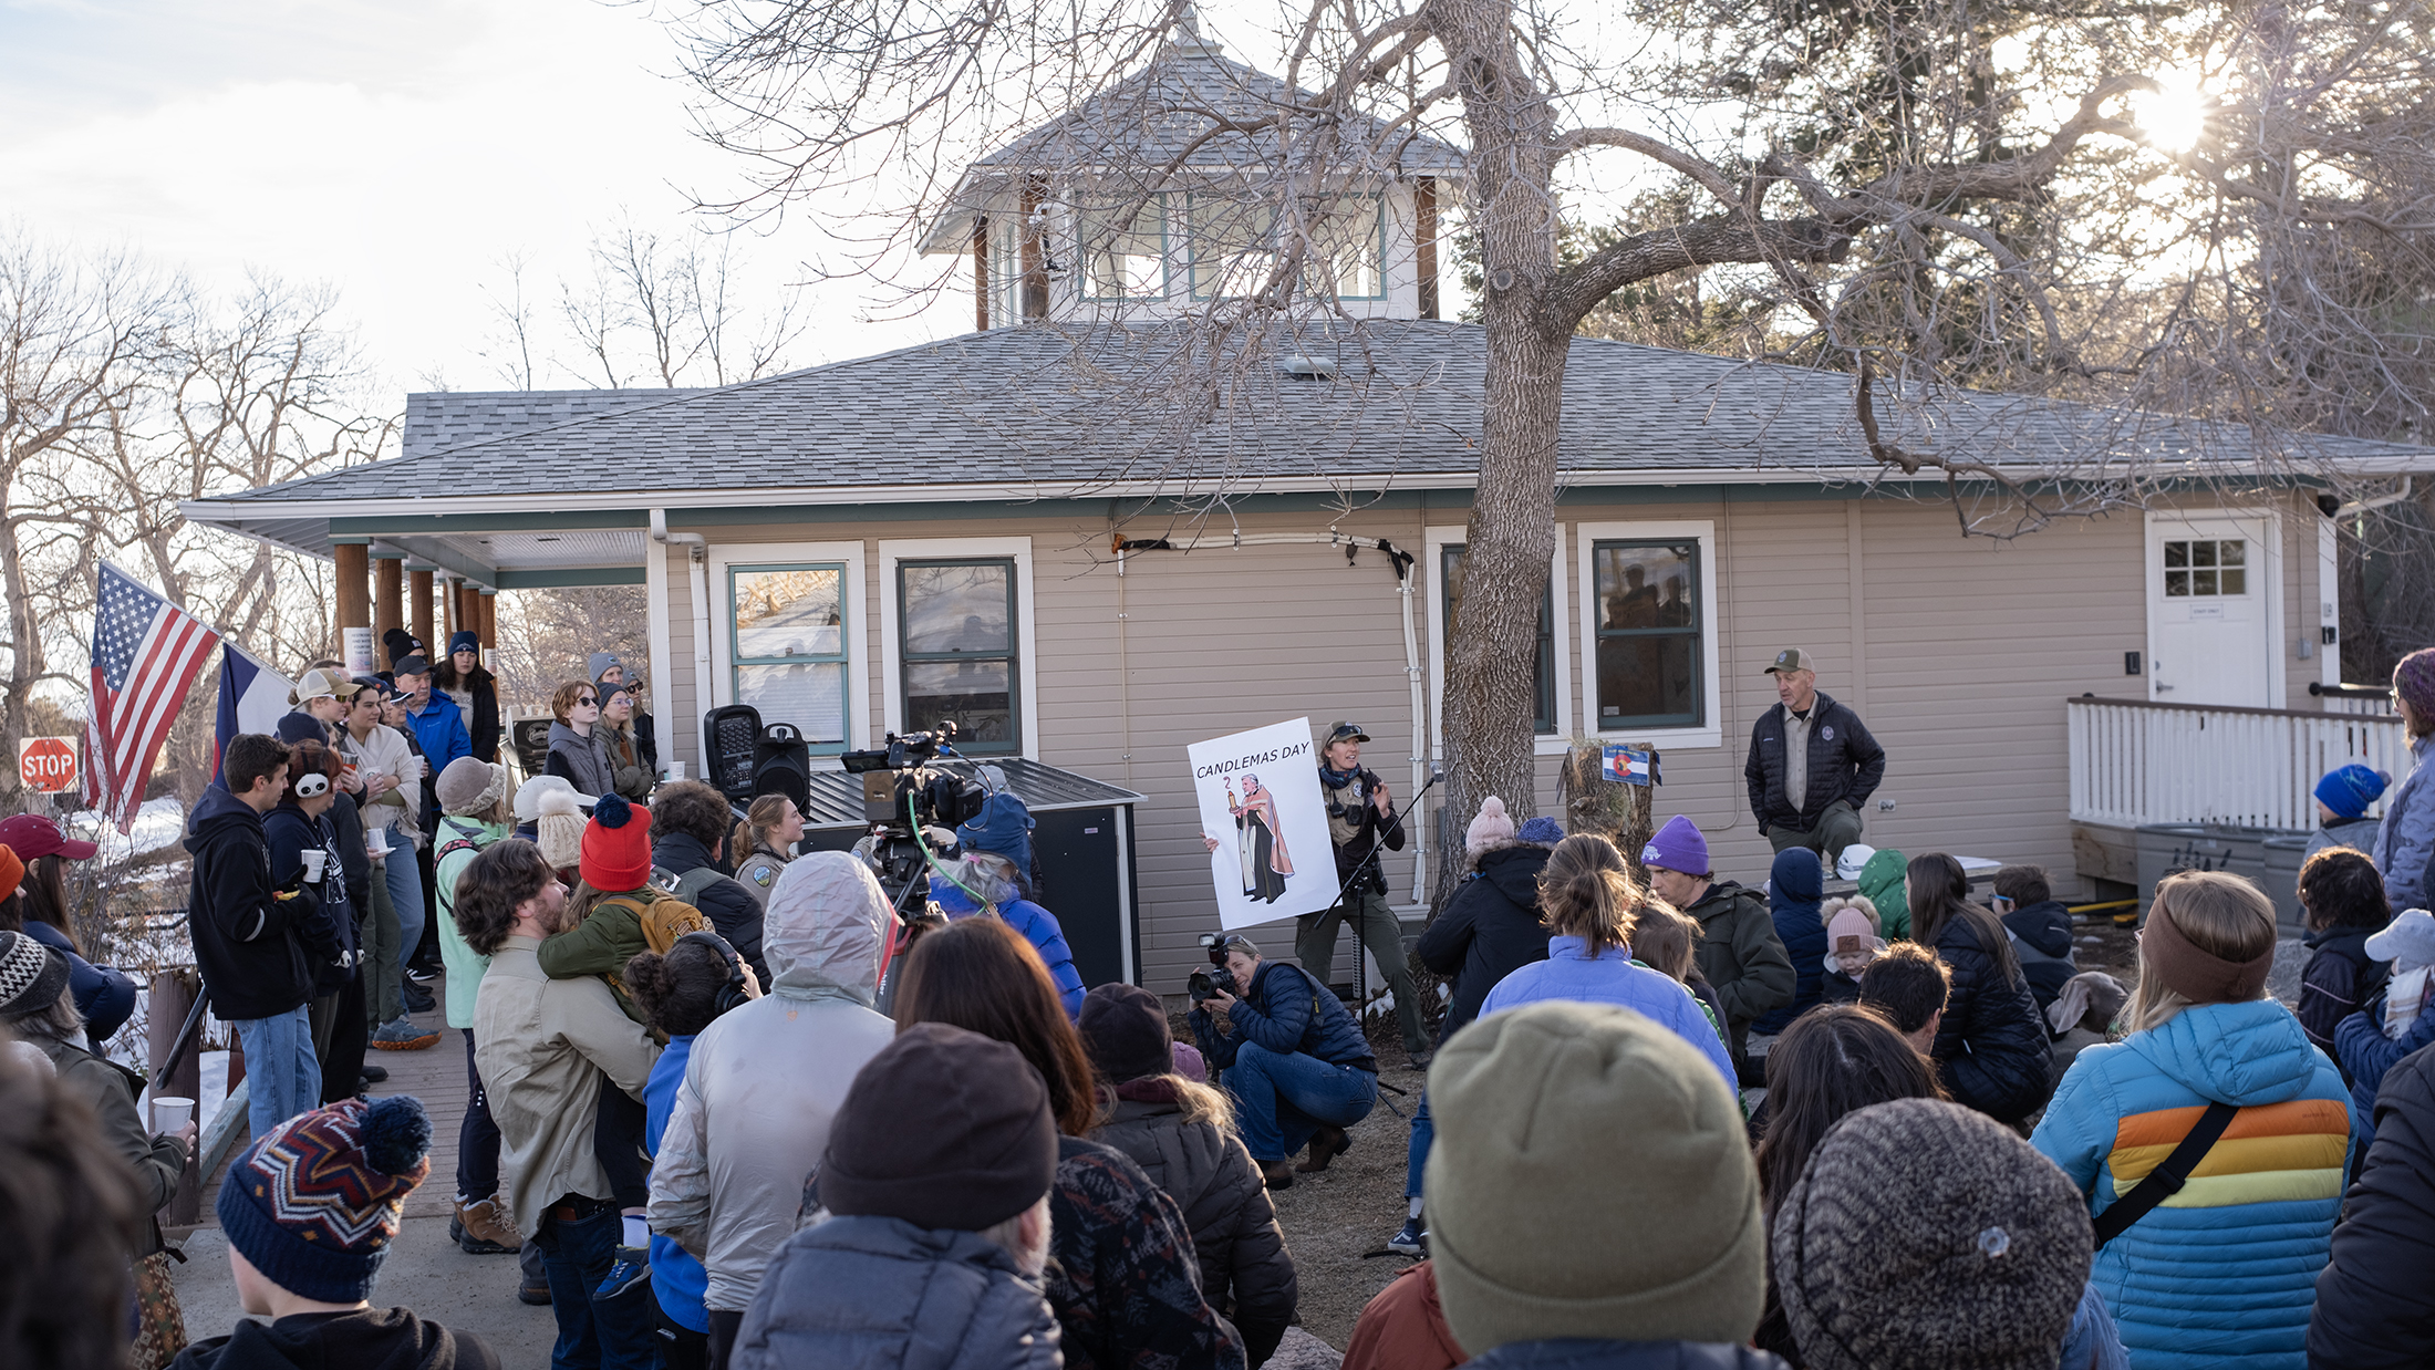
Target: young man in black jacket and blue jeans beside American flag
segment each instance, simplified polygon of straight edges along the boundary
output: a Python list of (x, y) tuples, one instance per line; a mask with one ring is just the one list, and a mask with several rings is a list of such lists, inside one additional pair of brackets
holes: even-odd
[(270, 886), (263, 815), (287, 791), (287, 745), (241, 732), (219, 759), (226, 784), (207, 786), (187, 822), (192, 857), (187, 937), (212, 1012), (246, 1049), (246, 1119), (261, 1136), (321, 1105), (312, 1051), (314, 976), (300, 937), (317, 905)]

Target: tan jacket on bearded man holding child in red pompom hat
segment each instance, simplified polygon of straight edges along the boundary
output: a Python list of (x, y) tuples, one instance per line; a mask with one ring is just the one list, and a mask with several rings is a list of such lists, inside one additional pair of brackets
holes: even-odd
[(509, 937), (472, 1005), (472, 1056), (499, 1122), (506, 1197), (524, 1231), (538, 1231), (560, 1195), (609, 1197), (609, 1178), (592, 1156), (601, 1073), (640, 1100), (660, 1059), (609, 986), (594, 976), (548, 978), (538, 949), (538, 937)]

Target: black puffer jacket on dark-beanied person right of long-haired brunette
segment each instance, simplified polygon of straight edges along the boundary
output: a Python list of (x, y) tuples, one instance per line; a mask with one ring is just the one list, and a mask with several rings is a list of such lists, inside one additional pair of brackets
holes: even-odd
[[(1127, 1080), (1125, 1093), (1154, 1095), (1159, 1078)], [(1300, 1282), (1293, 1253), (1276, 1226), (1276, 1205), (1242, 1139), (1215, 1122), (1183, 1122), (1174, 1097), (1118, 1097), (1115, 1112), (1091, 1129), (1091, 1141), (1115, 1146), (1166, 1190), (1193, 1229), (1200, 1295), (1235, 1319), (1252, 1365), (1276, 1353), (1293, 1324)]]

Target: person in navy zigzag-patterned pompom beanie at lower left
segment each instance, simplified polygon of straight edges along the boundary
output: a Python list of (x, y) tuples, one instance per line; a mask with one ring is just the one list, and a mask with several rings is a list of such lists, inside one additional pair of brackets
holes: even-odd
[(431, 1173), (429, 1151), (416, 1097), (341, 1100), (256, 1139), (219, 1185), (219, 1226), (236, 1302), (270, 1321), (239, 1321), (170, 1368), (497, 1370), (480, 1336), (370, 1304), (407, 1195)]

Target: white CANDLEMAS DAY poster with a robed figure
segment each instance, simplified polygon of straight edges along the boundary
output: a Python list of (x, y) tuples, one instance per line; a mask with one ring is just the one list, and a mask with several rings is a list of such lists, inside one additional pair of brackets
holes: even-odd
[(1193, 742), (1186, 754), (1220, 927), (1300, 917), (1337, 903), (1337, 857), (1308, 718)]

